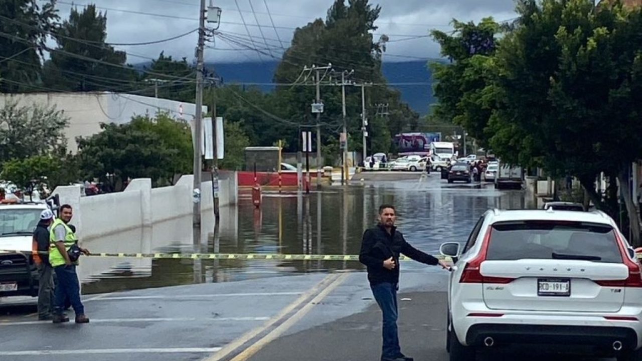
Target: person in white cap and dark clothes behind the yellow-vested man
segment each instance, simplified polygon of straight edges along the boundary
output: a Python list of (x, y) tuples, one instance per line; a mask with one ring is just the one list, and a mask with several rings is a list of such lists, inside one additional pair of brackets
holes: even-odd
[(44, 209), (33, 231), (33, 263), (38, 269), (38, 319), (53, 319), (53, 267), (49, 263), (49, 225), (53, 223), (53, 212)]

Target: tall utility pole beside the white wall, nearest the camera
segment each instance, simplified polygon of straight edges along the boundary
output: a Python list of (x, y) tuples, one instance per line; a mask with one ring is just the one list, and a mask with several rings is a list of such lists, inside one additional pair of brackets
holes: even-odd
[(198, 47), (196, 48), (196, 114), (194, 118), (194, 184), (193, 184), (193, 241), (200, 244), (201, 233), (201, 142), (203, 125), (203, 50), (205, 48), (205, 0), (200, 2), (200, 14), (198, 17)]

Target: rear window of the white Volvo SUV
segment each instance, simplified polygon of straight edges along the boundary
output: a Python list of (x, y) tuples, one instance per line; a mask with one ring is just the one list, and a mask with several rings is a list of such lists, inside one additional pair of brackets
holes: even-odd
[(570, 259), (622, 263), (614, 229), (585, 222), (492, 225), (487, 260)]

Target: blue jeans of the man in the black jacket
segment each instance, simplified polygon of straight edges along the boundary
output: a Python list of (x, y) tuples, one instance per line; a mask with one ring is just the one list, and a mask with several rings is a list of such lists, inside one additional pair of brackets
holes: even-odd
[(374, 299), (376, 299), (383, 313), (383, 348), (382, 358), (400, 357), (399, 335), (397, 334), (397, 285), (394, 283), (377, 283), (370, 285)]

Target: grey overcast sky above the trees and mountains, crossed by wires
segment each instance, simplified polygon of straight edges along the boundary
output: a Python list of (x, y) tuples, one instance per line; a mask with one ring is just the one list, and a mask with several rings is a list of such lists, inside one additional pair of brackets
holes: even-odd
[[(62, 1), (62, 3), (60, 3)], [(288, 48), (294, 29), (305, 26), (318, 17), (325, 19), (327, 9), (333, 0), (214, 0), (214, 5), (222, 8), (219, 31), (236, 37), (245, 46), (252, 45), (261, 54), (247, 50), (239, 44), (231, 44), (216, 38), (213, 49), (205, 51), (208, 62), (247, 62), (280, 57), (282, 53), (280, 38), (284, 48)], [(346, 1), (347, 2), (347, 1)], [(376, 25), (379, 29), (375, 39), (381, 34), (390, 38), (385, 61), (416, 60), (435, 58), (439, 48), (426, 37), (431, 29), (449, 30), (453, 18), (460, 21), (479, 21), (492, 16), (498, 21), (516, 17), (513, 0), (379, 0), (370, 1), (381, 6), (381, 14)], [(198, 27), (198, 4), (200, 0), (79, 0), (75, 6), (82, 8), (87, 3), (95, 3), (107, 12), (107, 41), (111, 43), (152, 42), (174, 37)], [(209, 3), (209, 0), (207, 0)], [(238, 6), (241, 10), (237, 8)], [(71, 0), (59, 0), (58, 9), (63, 19), (69, 17)], [(268, 15), (268, 9), (272, 20)], [(254, 13), (252, 8), (254, 7)], [(149, 13), (153, 15), (148, 15)], [(243, 19), (241, 19), (241, 14)], [(256, 17), (255, 17), (256, 14)], [(247, 30), (243, 25), (247, 24)], [(274, 26), (272, 26), (272, 21)], [(259, 26), (257, 26), (260, 24)], [(263, 35), (261, 35), (261, 30)], [(277, 37), (278, 33), (278, 37)], [(422, 37), (423, 36), (423, 37)], [(265, 46), (263, 40), (268, 46)], [(144, 46), (117, 46), (127, 51), (130, 64), (157, 58), (160, 51), (173, 57), (194, 58), (196, 33), (180, 39)]]

